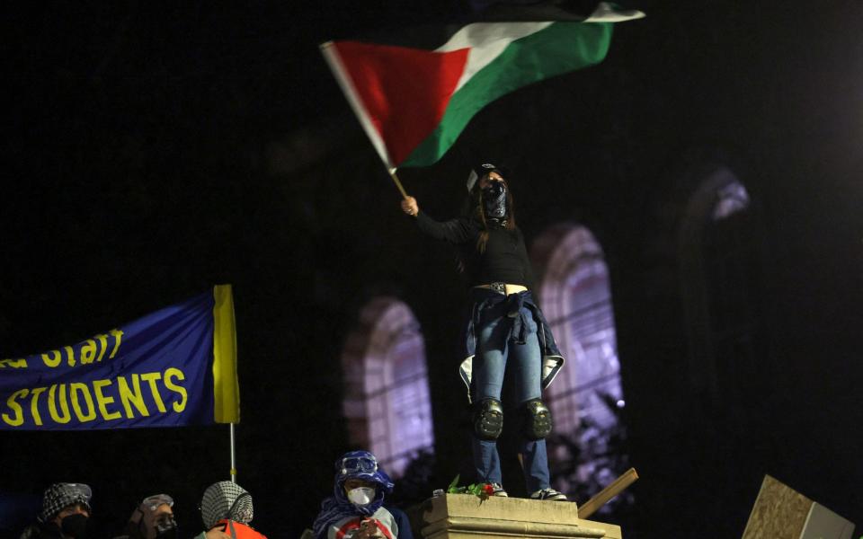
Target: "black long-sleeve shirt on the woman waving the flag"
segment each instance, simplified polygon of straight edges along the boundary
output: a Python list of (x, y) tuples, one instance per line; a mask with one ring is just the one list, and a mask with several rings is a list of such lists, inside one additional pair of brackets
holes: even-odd
[(528, 250), (518, 227), (512, 230), (503, 226), (490, 227), (485, 251), (479, 252), (476, 241), (482, 225), (476, 219), (458, 217), (439, 222), (421, 210), (416, 215), (416, 224), (423, 233), (458, 245), (465, 262), (468, 287), (500, 282), (533, 288)]

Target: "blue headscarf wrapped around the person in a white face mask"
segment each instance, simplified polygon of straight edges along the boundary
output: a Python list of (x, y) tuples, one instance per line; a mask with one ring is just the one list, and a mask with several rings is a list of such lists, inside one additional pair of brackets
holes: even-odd
[[(361, 479), (376, 485), (375, 499), (366, 506), (351, 503), (344, 493), (344, 482)], [(384, 503), (384, 496), (393, 491), (393, 482), (378, 464), (378, 459), (368, 451), (351, 451), (335, 461), (333, 496), (321, 503), (312, 531), (318, 538), (326, 537), (326, 529), (344, 517), (370, 517)]]

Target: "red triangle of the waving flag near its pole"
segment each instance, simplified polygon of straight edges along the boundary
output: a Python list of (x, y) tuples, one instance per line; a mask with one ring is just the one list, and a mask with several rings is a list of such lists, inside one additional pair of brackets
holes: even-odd
[(443, 119), (469, 49), (432, 52), (357, 41), (334, 45), (398, 166)]

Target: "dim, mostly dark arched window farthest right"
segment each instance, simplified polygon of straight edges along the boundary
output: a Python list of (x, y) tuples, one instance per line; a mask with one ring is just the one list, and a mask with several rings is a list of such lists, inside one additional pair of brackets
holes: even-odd
[(690, 381), (734, 412), (746, 398), (740, 380), (755, 379), (761, 318), (757, 227), (749, 193), (734, 172), (716, 166), (700, 178), (681, 219), (678, 246)]

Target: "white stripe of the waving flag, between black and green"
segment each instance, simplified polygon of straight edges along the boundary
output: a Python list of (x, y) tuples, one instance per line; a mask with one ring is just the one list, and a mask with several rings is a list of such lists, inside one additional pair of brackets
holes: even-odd
[[(636, 10), (617, 10), (613, 5), (601, 2), (593, 10), (591, 16), (583, 22), (622, 22), (640, 19), (644, 16), (645, 13)], [(494, 58), (500, 56), (512, 41), (525, 38), (551, 26), (553, 23), (474, 22), (457, 31), (446, 43), (435, 49), (435, 52), (470, 49), (467, 53), (465, 70), (458, 79), (453, 93), (458, 92), (479, 70), (491, 64)]]

